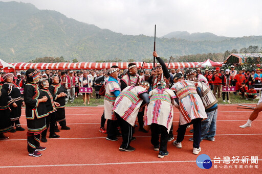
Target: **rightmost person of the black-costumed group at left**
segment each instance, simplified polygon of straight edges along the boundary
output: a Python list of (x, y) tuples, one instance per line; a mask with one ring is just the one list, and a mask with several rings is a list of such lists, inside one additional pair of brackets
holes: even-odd
[[(70, 130), (70, 128), (67, 127), (67, 121), (65, 120), (65, 110), (64, 110), (65, 98), (67, 97), (67, 90), (59, 83), (59, 78), (57, 75), (52, 76), (50, 79), (52, 84), (49, 86), (49, 90), (53, 95), (54, 102), (57, 102), (60, 105), (60, 106), (56, 106), (56, 110), (57, 110), (56, 122), (59, 122), (59, 125), (61, 126), (61, 130)], [(55, 132), (60, 132), (57, 126)]]

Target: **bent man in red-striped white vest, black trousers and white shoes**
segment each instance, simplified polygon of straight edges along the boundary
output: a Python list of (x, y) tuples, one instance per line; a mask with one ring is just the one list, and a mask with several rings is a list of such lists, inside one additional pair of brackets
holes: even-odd
[[(188, 70), (186, 74), (189, 73)], [(201, 152), (201, 121), (203, 118), (207, 118), (207, 114), (201, 97), (197, 92), (198, 83), (182, 80), (181, 73), (177, 73), (174, 76), (174, 82), (175, 84), (171, 89), (177, 93), (179, 98), (180, 117), (178, 136), (173, 145), (178, 148), (182, 147), (181, 142), (184, 140), (186, 128), (188, 125), (193, 124), (193, 154), (199, 154)]]

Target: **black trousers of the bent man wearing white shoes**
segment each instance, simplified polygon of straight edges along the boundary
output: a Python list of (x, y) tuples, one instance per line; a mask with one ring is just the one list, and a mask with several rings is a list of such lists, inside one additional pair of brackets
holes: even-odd
[(177, 142), (182, 142), (184, 140), (184, 136), (185, 136), (185, 133), (186, 133), (186, 127), (188, 125), (193, 124), (193, 129), (194, 129), (193, 147), (199, 148), (200, 147), (200, 141), (201, 141), (201, 121), (202, 121), (202, 118), (195, 118), (195, 119), (192, 119), (192, 121), (188, 124), (179, 125)]

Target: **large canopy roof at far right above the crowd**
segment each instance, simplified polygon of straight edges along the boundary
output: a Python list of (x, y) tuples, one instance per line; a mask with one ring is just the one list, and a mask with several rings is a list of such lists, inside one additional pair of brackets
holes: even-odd
[(227, 60), (224, 63), (240, 63), (244, 64), (247, 61), (247, 58), (261, 58), (262, 54), (261, 53), (246, 53), (246, 54), (231, 54), (227, 57)]

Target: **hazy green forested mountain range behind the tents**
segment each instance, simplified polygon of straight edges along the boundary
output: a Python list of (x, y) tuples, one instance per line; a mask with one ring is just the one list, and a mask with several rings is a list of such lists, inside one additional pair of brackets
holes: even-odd
[[(161, 57), (224, 53), (249, 45), (262, 46), (262, 36), (230, 38), (212, 33), (172, 32), (156, 39)], [(72, 61), (142, 61), (152, 58), (154, 37), (123, 35), (79, 22), (29, 3), (0, 2), (0, 59), (27, 62), (39, 57)]]

